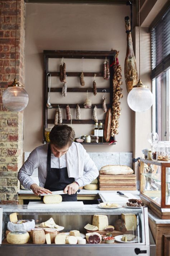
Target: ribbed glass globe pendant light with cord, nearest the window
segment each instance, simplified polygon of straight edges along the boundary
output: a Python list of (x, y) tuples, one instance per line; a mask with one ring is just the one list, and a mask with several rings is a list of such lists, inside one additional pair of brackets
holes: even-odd
[(129, 107), (136, 112), (144, 112), (153, 104), (153, 95), (146, 85), (142, 84), (140, 74), (140, 0), (139, 0), (139, 80), (127, 97)]

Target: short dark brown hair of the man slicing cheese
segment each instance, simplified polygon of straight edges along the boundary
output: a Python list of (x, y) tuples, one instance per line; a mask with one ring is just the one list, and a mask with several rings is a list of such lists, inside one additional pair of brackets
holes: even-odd
[(71, 146), (75, 139), (75, 131), (67, 124), (55, 125), (49, 133), (50, 143), (61, 149), (69, 144)]

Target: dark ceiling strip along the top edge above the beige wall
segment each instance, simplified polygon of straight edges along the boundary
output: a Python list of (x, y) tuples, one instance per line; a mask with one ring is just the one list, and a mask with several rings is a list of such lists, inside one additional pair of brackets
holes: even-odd
[[(126, 4), (127, 0), (25, 0), (25, 3), (43, 4)], [(135, 4), (135, 0), (131, 0)]]

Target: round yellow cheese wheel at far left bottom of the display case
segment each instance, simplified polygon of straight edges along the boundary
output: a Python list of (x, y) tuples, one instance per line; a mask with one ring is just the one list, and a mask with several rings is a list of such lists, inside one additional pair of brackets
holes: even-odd
[(29, 234), (25, 231), (12, 231), (6, 236), (6, 240), (11, 244), (24, 244), (29, 241)]

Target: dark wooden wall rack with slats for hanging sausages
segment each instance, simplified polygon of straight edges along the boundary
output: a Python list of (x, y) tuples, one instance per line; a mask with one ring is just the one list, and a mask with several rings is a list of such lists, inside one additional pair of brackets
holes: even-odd
[[(109, 64), (113, 63), (114, 59), (115, 59), (115, 50), (112, 51), (70, 51), (70, 50), (44, 50), (44, 109), (43, 109), (43, 127), (44, 127), (44, 131), (45, 128), (47, 128), (48, 124), (53, 124), (54, 120), (53, 119), (48, 119), (48, 109), (46, 107), (46, 102), (48, 99), (48, 92), (49, 92), (49, 88), (48, 88), (48, 62), (49, 62), (49, 58), (72, 58), (72, 59), (105, 59), (105, 57), (107, 57)], [(83, 72), (84, 76), (91, 76), (93, 77), (94, 74), (96, 74), (96, 76), (98, 77), (102, 77), (103, 76), (103, 70), (101, 72)], [(51, 76), (59, 76), (60, 72), (50, 72)], [(80, 76), (80, 72), (67, 72), (66, 69), (66, 75), (67, 76)], [(109, 104), (107, 104), (107, 109), (109, 107), (112, 107), (112, 103), (113, 103), (113, 84), (112, 84), (112, 80), (113, 80), (113, 68), (110, 67), (110, 79), (109, 79), (109, 84), (110, 87), (109, 88), (98, 88), (97, 92), (102, 92), (103, 89), (106, 90), (106, 92), (110, 93), (110, 102)], [(93, 88), (67, 88), (67, 92), (93, 92)], [(62, 88), (51, 88), (50, 92), (62, 92)], [(65, 108), (67, 104), (60, 104), (61, 108)], [(69, 104), (70, 108), (76, 108), (77, 103), (75, 104)], [(95, 104), (98, 108), (102, 108), (102, 104)], [(83, 104), (79, 104), (80, 108), (84, 108)], [(53, 108), (57, 108), (58, 104), (52, 104)], [(100, 120), (103, 124), (104, 124), (104, 120)], [(82, 119), (82, 120), (77, 120), (77, 119), (73, 119), (72, 120), (73, 124), (94, 124), (94, 120), (92, 119)], [(70, 124), (70, 121), (67, 121), (66, 119), (63, 119), (63, 124)], [(43, 134), (44, 134), (43, 131)], [(43, 135), (43, 143), (45, 141), (44, 135)]]

